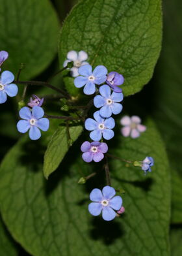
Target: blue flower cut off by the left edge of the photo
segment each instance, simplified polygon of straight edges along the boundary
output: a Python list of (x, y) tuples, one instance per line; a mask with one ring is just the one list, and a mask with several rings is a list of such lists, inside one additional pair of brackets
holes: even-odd
[(0, 104), (5, 103), (7, 95), (14, 97), (18, 93), (18, 87), (16, 84), (12, 84), (14, 81), (14, 74), (10, 71), (4, 71), (0, 78)]

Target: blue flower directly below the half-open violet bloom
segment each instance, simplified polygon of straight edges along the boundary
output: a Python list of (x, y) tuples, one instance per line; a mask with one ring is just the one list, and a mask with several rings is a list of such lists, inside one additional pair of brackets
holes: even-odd
[(120, 102), (123, 100), (123, 93), (111, 93), (110, 87), (106, 84), (99, 88), (99, 93), (94, 97), (94, 106), (96, 108), (101, 108), (99, 114), (103, 118), (109, 118), (112, 114), (116, 115), (122, 111), (122, 104)]

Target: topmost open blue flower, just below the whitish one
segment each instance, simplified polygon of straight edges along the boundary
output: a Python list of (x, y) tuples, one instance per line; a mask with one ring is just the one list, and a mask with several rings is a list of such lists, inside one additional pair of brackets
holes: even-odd
[(107, 79), (107, 69), (104, 66), (97, 66), (92, 72), (92, 66), (84, 65), (79, 67), (79, 74), (74, 80), (77, 88), (85, 86), (83, 92), (87, 95), (93, 94), (96, 91), (96, 84), (103, 84)]

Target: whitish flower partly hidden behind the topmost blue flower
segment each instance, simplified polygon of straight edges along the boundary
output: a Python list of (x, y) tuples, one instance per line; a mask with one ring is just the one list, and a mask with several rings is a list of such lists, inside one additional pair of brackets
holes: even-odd
[(88, 54), (86, 54), (86, 52), (70, 51), (67, 54), (66, 61), (64, 61), (63, 63), (63, 67), (66, 67), (68, 62), (73, 61), (73, 67), (70, 69), (71, 74), (73, 77), (79, 76), (79, 72), (78, 72), (79, 67), (88, 64), (88, 62), (86, 62), (86, 59), (88, 59)]

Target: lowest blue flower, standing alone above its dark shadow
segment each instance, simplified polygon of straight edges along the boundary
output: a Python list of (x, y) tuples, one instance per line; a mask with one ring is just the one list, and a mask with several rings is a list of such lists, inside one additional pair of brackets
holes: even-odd
[(93, 189), (90, 193), (91, 202), (88, 205), (88, 211), (93, 216), (98, 216), (102, 212), (102, 217), (105, 221), (112, 221), (116, 217), (116, 212), (122, 207), (122, 197), (116, 196), (116, 191), (109, 185), (103, 187), (103, 190)]

